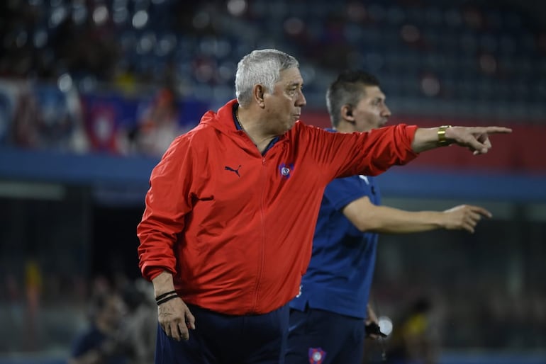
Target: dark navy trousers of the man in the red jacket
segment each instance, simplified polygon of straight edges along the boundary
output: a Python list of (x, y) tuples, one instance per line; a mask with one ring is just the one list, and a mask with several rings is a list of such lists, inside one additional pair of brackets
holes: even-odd
[(155, 364), (284, 364), (289, 307), (231, 316), (188, 305), (195, 330), (176, 341), (157, 325)]

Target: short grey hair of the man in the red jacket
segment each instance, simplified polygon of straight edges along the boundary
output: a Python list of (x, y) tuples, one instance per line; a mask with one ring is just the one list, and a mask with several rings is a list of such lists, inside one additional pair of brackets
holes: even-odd
[(254, 50), (237, 65), (235, 74), (235, 95), (240, 106), (247, 106), (252, 100), (252, 88), (261, 84), (265, 91), (272, 92), (280, 79), (280, 72), (299, 67), (299, 62), (280, 50)]

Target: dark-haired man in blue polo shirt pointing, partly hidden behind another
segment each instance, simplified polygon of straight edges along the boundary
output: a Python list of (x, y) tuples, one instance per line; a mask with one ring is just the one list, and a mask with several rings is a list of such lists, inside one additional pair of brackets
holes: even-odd
[[(366, 72), (340, 74), (328, 89), (326, 101), (331, 132), (369, 132), (383, 127), (391, 116), (379, 81)], [(472, 233), (481, 217), (491, 214), (471, 205), (418, 212), (381, 206), (372, 176), (330, 182), (318, 215), (311, 263), (299, 295), (290, 303), (286, 364), (360, 363), (364, 319), (366, 324), (377, 324), (368, 301), (378, 233), (433, 229)]]

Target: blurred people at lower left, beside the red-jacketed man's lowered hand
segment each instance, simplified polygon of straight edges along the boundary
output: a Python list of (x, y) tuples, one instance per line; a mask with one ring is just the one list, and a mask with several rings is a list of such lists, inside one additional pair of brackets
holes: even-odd
[(72, 278), (63, 282), (35, 260), (28, 260), (24, 282), (6, 276), (0, 353), (53, 351), (70, 364), (152, 363), (157, 306), (151, 283), (121, 272)]

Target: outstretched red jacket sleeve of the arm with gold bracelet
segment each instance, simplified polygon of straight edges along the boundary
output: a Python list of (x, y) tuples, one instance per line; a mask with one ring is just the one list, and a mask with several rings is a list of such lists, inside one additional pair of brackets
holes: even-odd
[(318, 164), (328, 178), (364, 174), (377, 176), (391, 166), (406, 164), (418, 154), (411, 143), (416, 125), (398, 124), (370, 132), (327, 132), (314, 136)]

